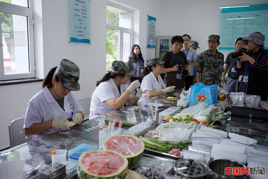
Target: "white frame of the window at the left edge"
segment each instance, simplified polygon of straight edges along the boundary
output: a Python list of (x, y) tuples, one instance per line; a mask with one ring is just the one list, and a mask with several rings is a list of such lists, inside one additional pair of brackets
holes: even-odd
[[(18, 74), (4, 74), (4, 64), (3, 64), (3, 47), (0, 47), (0, 81), (2, 80), (14, 80), (23, 78), (35, 78), (35, 56), (34, 56), (34, 31), (33, 31), (33, 4), (32, 0), (28, 0), (29, 7), (22, 7), (15, 4), (9, 4), (5, 2), (0, 2), (0, 12), (10, 13), (19, 16), (27, 17), (27, 27), (28, 27), (28, 55), (29, 55), (29, 68), (28, 73), (18, 73)], [(0, 16), (1, 19), (1, 16)], [(0, 34), (2, 35), (2, 29), (0, 26)], [(2, 37), (0, 39), (2, 44)]]

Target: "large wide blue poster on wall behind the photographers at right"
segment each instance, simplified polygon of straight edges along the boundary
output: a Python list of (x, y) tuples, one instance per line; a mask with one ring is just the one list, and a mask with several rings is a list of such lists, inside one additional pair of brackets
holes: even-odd
[[(221, 8), (219, 49), (235, 50), (236, 39), (248, 37), (253, 32), (268, 36), (268, 4)], [(268, 49), (268, 38), (265, 38), (264, 49)]]

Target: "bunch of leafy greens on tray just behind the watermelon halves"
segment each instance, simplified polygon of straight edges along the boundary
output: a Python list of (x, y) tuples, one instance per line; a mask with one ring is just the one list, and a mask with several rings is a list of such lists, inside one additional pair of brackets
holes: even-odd
[(166, 141), (158, 141), (154, 138), (147, 138), (147, 137), (142, 137), (142, 136), (140, 136), (139, 138), (144, 142), (144, 145), (146, 148), (159, 150), (161, 152), (168, 153), (172, 149), (178, 149), (180, 151), (182, 149), (186, 149), (186, 150), (188, 149), (188, 144), (184, 142), (168, 144)]

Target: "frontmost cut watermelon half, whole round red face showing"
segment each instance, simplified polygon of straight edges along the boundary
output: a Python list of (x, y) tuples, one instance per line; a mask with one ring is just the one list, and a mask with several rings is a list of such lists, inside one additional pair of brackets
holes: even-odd
[(78, 159), (78, 175), (82, 179), (124, 178), (127, 172), (127, 158), (113, 150), (89, 150)]

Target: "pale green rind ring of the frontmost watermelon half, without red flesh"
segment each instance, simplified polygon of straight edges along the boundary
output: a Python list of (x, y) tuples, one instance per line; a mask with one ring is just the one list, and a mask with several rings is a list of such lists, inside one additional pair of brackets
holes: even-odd
[[(84, 166), (83, 166), (81, 160), (83, 159), (83, 156), (84, 156), (86, 153), (98, 152), (98, 151), (102, 151), (102, 152), (103, 152), (103, 151), (114, 152), (115, 154), (121, 156), (121, 157), (124, 159), (125, 163), (124, 163), (123, 166), (121, 166), (120, 169), (118, 169), (117, 172), (115, 172), (115, 173), (113, 173), (113, 174), (110, 174), (110, 175), (94, 175), (94, 174), (88, 172), (88, 171), (84, 168)], [(124, 155), (122, 155), (122, 154), (119, 153), (119, 152), (113, 151), (113, 150), (89, 150), (89, 151), (83, 152), (83, 153), (80, 155), (80, 157), (79, 157), (79, 159), (78, 159), (78, 166), (79, 166), (79, 167), (78, 167), (78, 169), (77, 169), (77, 173), (78, 173), (78, 175), (80, 176), (81, 179), (114, 179), (115, 177), (118, 177), (118, 178), (123, 179), (123, 178), (125, 177), (126, 172), (127, 172), (127, 169), (128, 169), (128, 167), (127, 167), (127, 166), (128, 166), (128, 160), (127, 160), (127, 158), (126, 158)]]

